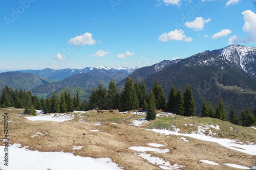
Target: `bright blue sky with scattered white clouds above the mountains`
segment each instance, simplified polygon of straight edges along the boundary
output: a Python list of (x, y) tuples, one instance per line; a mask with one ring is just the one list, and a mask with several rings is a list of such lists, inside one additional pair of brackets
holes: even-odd
[(255, 0), (0, 2), (0, 70), (148, 66), (256, 46)]

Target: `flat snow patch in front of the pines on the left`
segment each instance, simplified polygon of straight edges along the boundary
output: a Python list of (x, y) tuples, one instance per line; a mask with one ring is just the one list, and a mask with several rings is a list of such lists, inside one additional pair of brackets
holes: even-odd
[(75, 118), (75, 114), (67, 113), (51, 113), (51, 114), (39, 114), (37, 116), (26, 117), (31, 121), (43, 120), (43, 121), (53, 121), (53, 122), (65, 122)]

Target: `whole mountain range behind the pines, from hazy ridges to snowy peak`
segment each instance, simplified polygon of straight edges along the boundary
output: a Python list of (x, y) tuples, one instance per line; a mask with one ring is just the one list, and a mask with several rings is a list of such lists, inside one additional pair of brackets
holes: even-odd
[[(28, 75), (30, 78), (26, 77)], [(45, 94), (79, 88), (86, 91), (84, 98), (88, 98), (93, 88), (97, 88), (99, 84), (108, 88), (112, 79), (122, 89), (127, 76), (134, 81), (144, 81), (148, 92), (157, 80), (162, 85), (166, 98), (172, 85), (184, 90), (186, 84), (190, 84), (194, 91), (197, 114), (200, 113), (203, 99), (214, 106), (223, 99), (227, 110), (233, 107), (238, 112), (247, 106), (256, 107), (256, 47), (243, 45), (204, 51), (185, 59), (164, 60), (142, 68), (45, 68), (6, 72), (0, 74), (0, 85), (3, 87), (6, 83), (12, 88), (26, 87), (33, 93)], [(35, 80), (37, 83), (34, 83)]]

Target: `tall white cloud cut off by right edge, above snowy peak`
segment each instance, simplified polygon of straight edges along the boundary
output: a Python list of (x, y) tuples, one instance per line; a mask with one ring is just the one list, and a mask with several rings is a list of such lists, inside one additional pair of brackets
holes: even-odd
[(237, 44), (237, 43), (246, 43), (246, 42), (256, 42), (256, 14), (253, 13), (251, 10), (247, 10), (242, 12), (244, 15), (244, 26), (243, 31), (248, 33), (247, 38), (241, 39), (238, 36), (234, 35), (229, 38), (230, 44)]

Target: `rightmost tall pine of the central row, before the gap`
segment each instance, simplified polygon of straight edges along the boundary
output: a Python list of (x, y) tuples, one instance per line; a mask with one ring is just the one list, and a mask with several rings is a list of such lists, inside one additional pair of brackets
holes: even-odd
[(184, 96), (184, 116), (195, 116), (196, 107), (195, 107), (193, 91), (190, 85), (186, 85), (183, 96)]

